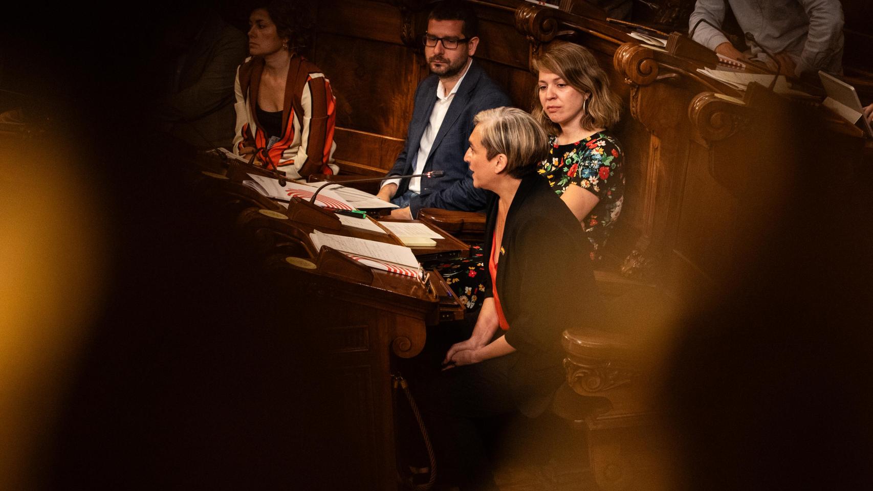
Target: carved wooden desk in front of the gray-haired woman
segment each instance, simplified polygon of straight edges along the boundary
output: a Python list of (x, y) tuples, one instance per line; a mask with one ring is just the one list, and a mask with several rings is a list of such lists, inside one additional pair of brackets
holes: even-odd
[[(314, 330), (319, 352), (330, 358), (324, 386), (335, 393), (333, 404), (340, 406), (335, 411), (341, 413), (330, 431), (345, 443), (330, 457), (354, 488), (395, 490), (392, 357), (416, 356), (423, 349), (425, 326), (463, 317), (464, 306), (438, 274), (420, 281), (370, 269), (339, 251), (315, 250), (309, 240), (313, 230), (399, 243), (395, 235), (341, 226), (335, 215), (315, 213), (306, 203), (292, 202), (285, 209), (241, 184), (251, 171), (244, 165), (231, 165), (223, 174), (210, 168), (211, 174), (194, 173), (197, 189), (219, 204), (221, 197), (227, 201), (224, 208), (235, 214), (234, 226), (252, 255), (261, 258), (270, 288), (280, 290), (280, 297), (305, 299), (292, 310), (294, 324)], [(469, 249), (438, 232), (445, 237), (439, 253)], [(435, 250), (418, 249), (424, 255)], [(320, 438), (318, 430), (312, 431), (306, 438)]]

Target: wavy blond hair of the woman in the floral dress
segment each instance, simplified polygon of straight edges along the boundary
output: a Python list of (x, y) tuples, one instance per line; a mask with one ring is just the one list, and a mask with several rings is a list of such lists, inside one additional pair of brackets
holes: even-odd
[[(540, 58), (533, 59), (533, 70), (552, 72), (582, 93), (590, 93), (588, 109), (582, 115), (581, 125), (587, 130), (608, 128), (618, 123), (622, 101), (609, 89), (609, 78), (603, 72), (591, 51), (579, 44), (555, 41)], [(540, 104), (540, 85), (533, 89), (533, 119), (553, 136), (560, 134), (560, 126), (549, 119)]]

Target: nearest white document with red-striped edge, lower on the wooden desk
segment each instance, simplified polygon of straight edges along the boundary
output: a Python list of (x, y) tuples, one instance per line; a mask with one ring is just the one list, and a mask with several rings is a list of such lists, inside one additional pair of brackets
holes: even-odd
[(337, 249), (346, 256), (367, 264), (370, 268), (419, 279), (424, 276), (422, 265), (412, 254), (412, 249), (408, 247), (345, 235), (325, 234), (318, 230), (315, 230), (309, 237), (312, 239), (315, 249), (320, 250), (321, 246)]

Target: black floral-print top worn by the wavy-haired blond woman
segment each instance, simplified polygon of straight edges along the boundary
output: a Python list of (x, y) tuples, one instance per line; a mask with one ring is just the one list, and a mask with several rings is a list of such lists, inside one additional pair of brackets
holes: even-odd
[(600, 249), (622, 213), (624, 153), (621, 144), (608, 131), (567, 145), (558, 145), (557, 140), (554, 136), (549, 138), (549, 156), (540, 162), (537, 172), (546, 177), (559, 196), (567, 186), (575, 184), (600, 198), (581, 222), (594, 246), (591, 259), (600, 260)]

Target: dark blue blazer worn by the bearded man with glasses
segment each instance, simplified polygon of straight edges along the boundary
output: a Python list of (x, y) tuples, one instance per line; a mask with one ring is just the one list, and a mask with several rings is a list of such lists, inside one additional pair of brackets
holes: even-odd
[[(438, 82), (439, 78), (436, 75), (430, 75), (418, 85), (416, 105), (406, 133), (406, 144), (403, 146), (403, 151), (397, 155), (388, 177), (412, 174), (422, 135), (430, 123), (430, 113), (433, 112), (436, 104)], [(470, 138), (470, 133), (473, 133), (473, 117), (477, 113), (485, 109), (510, 105), (512, 101), (509, 97), (473, 61), (455, 92), (443, 124), (436, 133), (433, 147), (430, 147), (428, 161), (424, 164), (424, 172), (441, 170), (444, 173), (443, 177), (422, 178), (421, 194), (409, 201), (409, 212), (413, 217), (418, 215), (418, 210), (421, 208), (462, 211), (485, 209), (488, 192), (473, 188), (472, 173), (464, 162), (464, 153), (470, 145), (467, 139)], [(409, 179), (404, 179), (400, 181), (395, 195), (403, 194), (407, 189), (409, 189)]]

